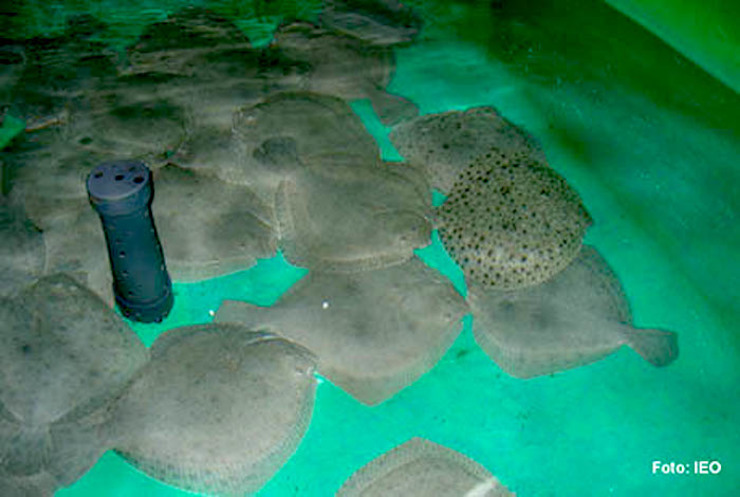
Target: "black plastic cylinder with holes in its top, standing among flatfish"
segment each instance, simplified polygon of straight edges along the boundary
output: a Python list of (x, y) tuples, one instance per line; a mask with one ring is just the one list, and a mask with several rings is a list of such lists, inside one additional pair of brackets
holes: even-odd
[(105, 232), (118, 308), (133, 321), (162, 321), (174, 298), (152, 217), (151, 171), (140, 161), (104, 162), (88, 175), (87, 193)]

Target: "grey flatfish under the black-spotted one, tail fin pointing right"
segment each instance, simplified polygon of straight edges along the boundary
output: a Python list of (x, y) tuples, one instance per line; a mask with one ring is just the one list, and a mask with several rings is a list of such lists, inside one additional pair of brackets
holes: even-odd
[(584, 366), (623, 345), (655, 366), (678, 357), (675, 333), (633, 327), (619, 280), (589, 246), (542, 285), (509, 292), (471, 287), (468, 300), (476, 341), (517, 378)]

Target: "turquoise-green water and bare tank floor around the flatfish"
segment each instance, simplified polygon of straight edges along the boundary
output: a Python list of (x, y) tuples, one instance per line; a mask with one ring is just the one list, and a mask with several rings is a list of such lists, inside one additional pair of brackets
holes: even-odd
[[(119, 19), (124, 39), (167, 11), (130, 2), (126, 15), (114, 15), (108, 4), (79, 4)], [(61, 4), (40, 5), (29, 19), (43, 24), (42, 13)], [(623, 349), (587, 367), (516, 380), (477, 347), (468, 316), (437, 366), (379, 406), (322, 380), (306, 437), (259, 495), (332, 495), (356, 469), (414, 436), (475, 459), (523, 497), (738, 495), (738, 95), (602, 3), (425, 5), (433, 22), (418, 44), (398, 51), (389, 91), (423, 113), (494, 105), (536, 136), (593, 216), (586, 241), (619, 275), (635, 324), (676, 331), (681, 355), (656, 369)], [(269, 39), (280, 11), (262, 14), (242, 27)], [(353, 108), (384, 157), (398, 160), (367, 102)], [(464, 292), (436, 235), (419, 253)], [(150, 344), (166, 329), (210, 321), (223, 298), (269, 305), (304, 274), (277, 257), (176, 284), (167, 322), (134, 327)], [(653, 474), (655, 460), (718, 461), (722, 470)], [(108, 453), (58, 495), (187, 494)]]

